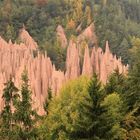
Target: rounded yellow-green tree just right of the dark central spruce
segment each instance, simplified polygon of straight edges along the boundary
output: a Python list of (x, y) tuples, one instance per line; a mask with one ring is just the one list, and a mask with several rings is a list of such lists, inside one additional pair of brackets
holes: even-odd
[(120, 122), (123, 119), (122, 107), (124, 105), (118, 93), (108, 95), (104, 99), (102, 106), (106, 108), (106, 112), (102, 115), (105, 122), (104, 127), (102, 124), (104, 130), (103, 138), (107, 140), (109, 138), (112, 140), (123, 139), (124, 132)]

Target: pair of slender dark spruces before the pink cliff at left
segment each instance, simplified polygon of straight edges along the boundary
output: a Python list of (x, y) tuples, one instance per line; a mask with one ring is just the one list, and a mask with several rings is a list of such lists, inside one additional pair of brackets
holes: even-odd
[(3, 90), (4, 108), (0, 116), (0, 139), (26, 140), (36, 139), (36, 120), (38, 115), (32, 109), (31, 91), (27, 72), (22, 74), (21, 90), (18, 90), (12, 78)]

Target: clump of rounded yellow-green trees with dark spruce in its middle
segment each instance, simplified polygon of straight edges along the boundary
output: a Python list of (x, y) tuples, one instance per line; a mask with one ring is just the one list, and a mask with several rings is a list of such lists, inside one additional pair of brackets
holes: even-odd
[(81, 77), (66, 84), (49, 104), (48, 116), (39, 128), (40, 139), (120, 139), (125, 132), (120, 95), (105, 95), (97, 76)]

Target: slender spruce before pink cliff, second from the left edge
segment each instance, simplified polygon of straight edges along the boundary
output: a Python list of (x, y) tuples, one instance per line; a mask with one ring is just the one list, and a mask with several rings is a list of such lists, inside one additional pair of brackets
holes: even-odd
[(22, 74), (20, 96), (15, 116), (16, 122), (19, 124), (19, 137), (22, 140), (27, 140), (36, 137), (35, 119), (37, 113), (32, 109), (31, 90), (26, 70)]

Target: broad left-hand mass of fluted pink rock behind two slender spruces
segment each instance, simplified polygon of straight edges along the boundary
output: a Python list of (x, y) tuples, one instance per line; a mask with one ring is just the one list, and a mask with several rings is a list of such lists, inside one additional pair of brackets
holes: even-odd
[[(17, 87), (21, 86), (21, 74), (26, 69), (30, 79), (30, 88), (32, 90), (33, 107), (38, 110), (39, 114), (43, 114), (43, 103), (47, 97), (48, 88), (52, 88), (58, 93), (65, 77), (64, 73), (55, 70), (52, 62), (47, 54), (38, 53), (36, 57), (33, 55), (30, 46), (25, 44), (11, 44), (0, 42), (0, 110), (3, 108), (2, 91), (4, 83), (10, 76)], [(31, 46), (32, 47), (32, 46)]]

